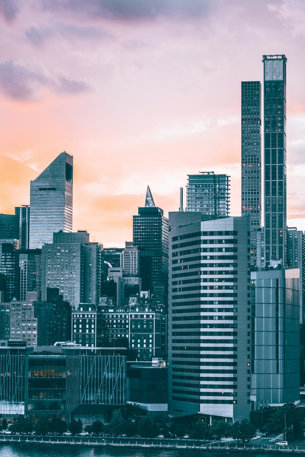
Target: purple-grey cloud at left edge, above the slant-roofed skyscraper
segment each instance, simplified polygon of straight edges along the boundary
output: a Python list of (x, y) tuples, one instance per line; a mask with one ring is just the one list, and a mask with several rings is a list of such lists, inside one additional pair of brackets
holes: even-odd
[(36, 100), (43, 88), (63, 94), (92, 90), (88, 81), (62, 72), (49, 72), (43, 65), (13, 60), (0, 63), (0, 90), (5, 96), (13, 100)]

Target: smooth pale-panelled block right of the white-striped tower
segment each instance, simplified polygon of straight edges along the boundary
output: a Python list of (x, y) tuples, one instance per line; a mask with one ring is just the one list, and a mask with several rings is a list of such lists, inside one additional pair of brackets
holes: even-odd
[(300, 271), (251, 272), (251, 410), (300, 402)]

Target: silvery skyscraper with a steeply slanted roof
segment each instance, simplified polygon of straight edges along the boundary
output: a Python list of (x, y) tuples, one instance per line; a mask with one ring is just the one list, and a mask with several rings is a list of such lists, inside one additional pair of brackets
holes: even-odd
[(73, 156), (65, 151), (30, 188), (30, 249), (53, 243), (53, 234), (72, 232)]

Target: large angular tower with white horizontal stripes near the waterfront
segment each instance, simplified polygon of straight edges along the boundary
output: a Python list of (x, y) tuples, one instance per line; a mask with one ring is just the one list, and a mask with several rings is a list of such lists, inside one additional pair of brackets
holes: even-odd
[(250, 418), (247, 217), (169, 214), (168, 414)]

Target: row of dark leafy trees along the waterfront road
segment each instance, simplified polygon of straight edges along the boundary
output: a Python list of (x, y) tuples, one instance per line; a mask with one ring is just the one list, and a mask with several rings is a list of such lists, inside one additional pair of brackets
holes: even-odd
[[(305, 417), (302, 412), (301, 408), (297, 408), (291, 403), (278, 409), (271, 409), (269, 421), (263, 431), (266, 435), (286, 433), (286, 438), (289, 441), (300, 439), (305, 430)], [(36, 435), (42, 436), (47, 434), (63, 435), (69, 430), (72, 436), (75, 436), (83, 431), (83, 424), (80, 420), (74, 419), (71, 420), (70, 424), (67, 424), (58, 417), (49, 420), (46, 415), (39, 416), (37, 422), (33, 422), (31, 418), (18, 416), (11, 424), (2, 419), (0, 430), (22, 434), (30, 434), (34, 431)], [(187, 437), (194, 440), (217, 439), (219, 441), (224, 437), (232, 437), (242, 442), (251, 440), (256, 436), (256, 427), (246, 419), (241, 420), (241, 422), (235, 421), (231, 425), (223, 420), (214, 420), (209, 426), (200, 420), (191, 425), (186, 425), (176, 421), (169, 422), (168, 418), (161, 416), (151, 418), (145, 410), (137, 405), (126, 405), (121, 409), (115, 409), (108, 424), (103, 424), (97, 420), (92, 425), (87, 425), (85, 431), (89, 433), (89, 436), (141, 436), (143, 438), (160, 436), (179, 439)]]

